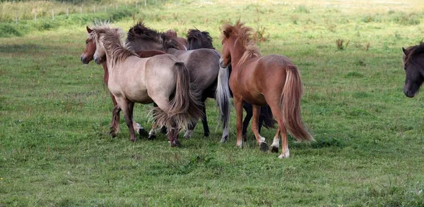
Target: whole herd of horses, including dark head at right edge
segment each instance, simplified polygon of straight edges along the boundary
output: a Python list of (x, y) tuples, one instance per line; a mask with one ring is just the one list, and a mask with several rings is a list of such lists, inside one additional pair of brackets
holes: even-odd
[[(179, 146), (178, 134), (192, 137), (194, 127), (201, 119), (204, 136), (209, 128), (205, 101), (216, 99), (223, 135), (229, 135), (230, 99), (233, 99), (237, 117), (237, 142), (246, 141), (247, 127), (253, 118), (252, 132), (259, 148), (269, 150), (261, 137), (261, 126), (272, 128), (278, 124), (271, 151), (278, 152), (281, 137), (281, 155), (290, 156), (287, 131), (298, 141), (312, 141), (300, 115), (302, 81), (298, 68), (289, 58), (281, 55), (261, 56), (252, 40), (252, 28), (237, 21), (223, 25), (222, 53), (213, 47), (208, 32), (193, 29), (187, 39), (168, 30), (158, 32), (137, 23), (127, 32), (122, 42), (122, 29), (101, 23), (87, 27), (88, 39), (81, 61), (102, 64), (104, 82), (113, 102), (110, 134), (119, 130), (119, 113), (124, 112), (131, 141), (136, 132), (154, 139), (156, 131), (167, 134), (171, 146)], [(404, 93), (414, 96), (424, 81), (424, 44), (404, 49), (406, 83)], [(133, 118), (134, 103), (153, 103), (153, 126), (147, 133)], [(242, 120), (243, 108), (247, 112)]]

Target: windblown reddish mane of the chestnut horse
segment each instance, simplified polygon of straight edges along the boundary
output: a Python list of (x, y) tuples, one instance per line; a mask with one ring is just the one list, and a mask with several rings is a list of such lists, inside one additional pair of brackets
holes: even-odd
[[(239, 63), (244, 63), (247, 61), (247, 58), (252, 57), (261, 57), (258, 46), (253, 42), (252, 36), (252, 27), (245, 26), (245, 23), (241, 23), (240, 20), (237, 20), (235, 25), (226, 24), (223, 26), (223, 33), (228, 34), (228, 37), (235, 37), (235, 45), (240, 42), (242, 46), (242, 57), (240, 58)], [(223, 34), (223, 39), (228, 39)]]

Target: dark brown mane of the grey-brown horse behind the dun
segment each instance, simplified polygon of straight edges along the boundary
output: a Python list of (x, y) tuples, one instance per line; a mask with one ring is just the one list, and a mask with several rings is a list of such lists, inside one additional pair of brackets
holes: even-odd
[(133, 27), (131, 27), (128, 31), (128, 35), (126, 37), (126, 43), (135, 42), (136, 39), (144, 39), (147, 41), (157, 42), (162, 45), (162, 49), (179, 49), (182, 46), (177, 42), (177, 33), (169, 34), (165, 32), (158, 32), (156, 30), (152, 30), (144, 25), (144, 23), (139, 22)]

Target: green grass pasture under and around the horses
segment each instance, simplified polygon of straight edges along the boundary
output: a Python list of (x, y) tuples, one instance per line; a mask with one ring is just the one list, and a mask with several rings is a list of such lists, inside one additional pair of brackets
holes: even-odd
[[(232, 110), (219, 144), (213, 100), (211, 136), (198, 125), (181, 148), (163, 134), (130, 142), (123, 118), (112, 138), (101, 66), (79, 60), (85, 24), (67, 23), (0, 38), (0, 206), (424, 206), (423, 94), (404, 96), (401, 63), (401, 47), (424, 38), (421, 1), (169, 1), (135, 18), (207, 30), (218, 51), (222, 23), (261, 31), (262, 54), (298, 65), (317, 142), (290, 139), (287, 159), (253, 139), (239, 149)], [(148, 128), (149, 107), (134, 109)]]

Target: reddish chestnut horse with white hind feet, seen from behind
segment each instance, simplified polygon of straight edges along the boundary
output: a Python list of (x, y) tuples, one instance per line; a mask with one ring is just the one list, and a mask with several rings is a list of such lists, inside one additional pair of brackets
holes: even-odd
[(261, 150), (268, 149), (265, 138), (258, 132), (260, 106), (268, 103), (278, 123), (271, 151), (278, 151), (281, 134), (281, 155), (278, 158), (288, 158), (290, 153), (286, 130), (298, 141), (314, 140), (300, 116), (302, 96), (300, 74), (298, 68), (285, 56), (275, 54), (261, 56), (251, 35), (252, 28), (240, 23), (240, 20), (235, 25), (223, 25), (220, 68), (226, 68), (231, 63), (232, 72), (228, 80), (228, 70), (221, 69), (220, 73), (227, 75), (220, 77), (223, 78), (221, 84), (229, 82), (233, 94), (237, 114), (236, 146), (242, 146), (242, 101), (247, 101), (253, 107), (252, 131), (257, 144)]

